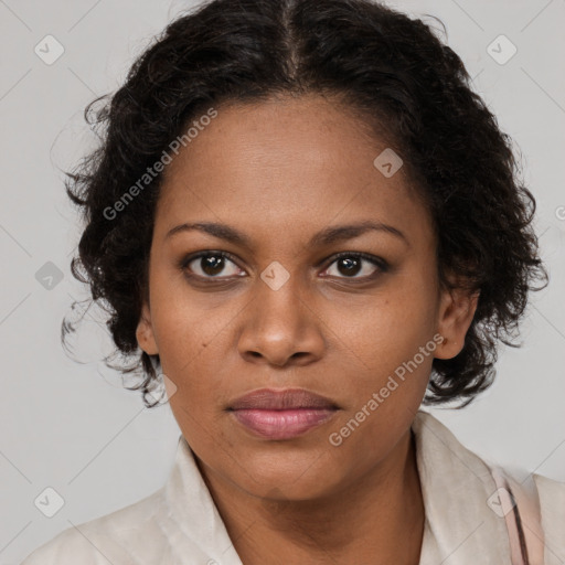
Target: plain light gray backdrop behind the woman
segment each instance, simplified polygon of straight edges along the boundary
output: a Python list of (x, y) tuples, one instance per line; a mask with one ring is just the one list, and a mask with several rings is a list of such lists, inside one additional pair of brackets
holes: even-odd
[[(552, 279), (533, 296), (524, 347), (501, 352), (492, 388), (465, 411), (431, 412), (484, 458), (565, 481), (565, 2), (388, 3), (445, 22), (476, 89), (521, 148)], [(97, 362), (108, 344), (96, 317), (87, 316), (76, 344), (89, 363), (61, 348), (61, 319), (72, 297), (86, 296), (68, 268), (78, 227), (61, 170), (95, 140), (84, 106), (115, 90), (152, 35), (188, 6), (0, 0), (0, 564), (20, 563), (71, 524), (150, 494), (171, 467), (180, 430), (169, 407), (145, 409), (139, 393), (124, 391)], [(52, 65), (34, 53), (47, 34), (65, 50)], [(487, 52), (500, 34), (518, 47), (504, 65)], [(51, 290), (35, 278), (47, 262), (64, 275)], [(65, 500), (51, 519), (33, 503), (46, 487)]]

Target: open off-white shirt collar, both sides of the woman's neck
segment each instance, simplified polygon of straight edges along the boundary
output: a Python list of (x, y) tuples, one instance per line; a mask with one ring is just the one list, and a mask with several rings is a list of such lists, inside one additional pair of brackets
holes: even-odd
[[(418, 411), (412, 430), (426, 514), (419, 565), (509, 563), (504, 520), (487, 503), (497, 490), (489, 467), (429, 413)], [(160, 526), (179, 563), (243, 565), (182, 435), (164, 503)]]

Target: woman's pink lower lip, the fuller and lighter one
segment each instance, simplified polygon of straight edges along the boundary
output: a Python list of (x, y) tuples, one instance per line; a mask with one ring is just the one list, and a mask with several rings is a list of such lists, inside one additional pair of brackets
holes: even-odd
[(232, 411), (250, 431), (267, 439), (291, 439), (329, 420), (334, 409), (295, 408), (267, 411), (245, 408)]

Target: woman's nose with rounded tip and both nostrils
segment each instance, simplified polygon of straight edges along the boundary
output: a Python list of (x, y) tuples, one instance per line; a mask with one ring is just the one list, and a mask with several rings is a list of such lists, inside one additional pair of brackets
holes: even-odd
[(242, 318), (238, 350), (252, 363), (302, 366), (320, 359), (326, 348), (323, 327), (313, 301), (300, 281), (290, 277), (277, 290), (262, 279)]

